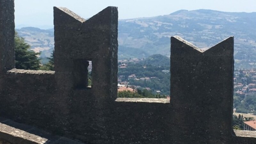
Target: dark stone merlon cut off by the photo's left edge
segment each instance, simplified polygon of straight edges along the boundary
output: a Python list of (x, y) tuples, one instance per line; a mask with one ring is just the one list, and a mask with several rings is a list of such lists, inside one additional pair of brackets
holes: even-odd
[(0, 75), (15, 67), (14, 0), (0, 0)]

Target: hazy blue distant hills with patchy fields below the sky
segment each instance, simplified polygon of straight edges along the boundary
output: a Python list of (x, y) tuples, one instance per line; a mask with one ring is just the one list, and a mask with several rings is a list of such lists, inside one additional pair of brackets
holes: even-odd
[[(32, 49), (50, 56), (53, 29), (17, 29)], [(212, 47), (235, 37), (236, 67), (256, 67), (256, 12), (180, 10), (169, 15), (121, 19), (118, 25), (118, 57), (143, 58), (152, 54), (170, 56), (170, 37), (178, 35), (199, 48)], [(41, 47), (41, 48), (40, 48)]]

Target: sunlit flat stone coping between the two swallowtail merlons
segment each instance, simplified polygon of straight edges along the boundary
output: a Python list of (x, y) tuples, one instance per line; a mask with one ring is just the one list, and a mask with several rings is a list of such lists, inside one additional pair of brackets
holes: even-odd
[(117, 98), (116, 102), (170, 103), (166, 98)]

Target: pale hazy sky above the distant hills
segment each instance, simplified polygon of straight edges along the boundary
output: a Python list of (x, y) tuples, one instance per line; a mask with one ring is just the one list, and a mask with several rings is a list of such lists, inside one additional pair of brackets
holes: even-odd
[(256, 0), (15, 0), (16, 27), (53, 27), (53, 6), (90, 18), (107, 6), (117, 6), (119, 19), (167, 15), (178, 10), (210, 9), (255, 12)]

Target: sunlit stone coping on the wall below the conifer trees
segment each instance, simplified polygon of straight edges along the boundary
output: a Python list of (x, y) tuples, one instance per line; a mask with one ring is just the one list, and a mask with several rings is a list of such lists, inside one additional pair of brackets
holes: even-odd
[(46, 71), (46, 70), (25, 70), (25, 69), (16, 69), (13, 68), (7, 71), (7, 74), (52, 74), (54, 75), (55, 71)]

